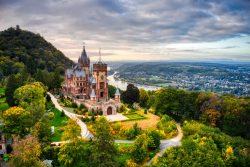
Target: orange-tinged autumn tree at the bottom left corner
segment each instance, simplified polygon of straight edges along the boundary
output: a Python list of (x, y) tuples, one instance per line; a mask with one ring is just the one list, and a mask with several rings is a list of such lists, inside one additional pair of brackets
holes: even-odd
[(20, 137), (16, 136), (13, 138), (12, 147), (13, 151), (10, 155), (10, 162), (14, 166), (43, 166), (39, 160), (41, 145), (36, 137), (28, 135), (21, 140)]

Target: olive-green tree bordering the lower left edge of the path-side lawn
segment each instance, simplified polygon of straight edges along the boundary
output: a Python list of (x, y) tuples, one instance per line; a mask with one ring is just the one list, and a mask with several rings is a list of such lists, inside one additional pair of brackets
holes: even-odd
[(48, 116), (45, 116), (36, 122), (31, 130), (31, 134), (37, 137), (43, 147), (50, 145), (52, 142), (51, 122), (52, 120)]

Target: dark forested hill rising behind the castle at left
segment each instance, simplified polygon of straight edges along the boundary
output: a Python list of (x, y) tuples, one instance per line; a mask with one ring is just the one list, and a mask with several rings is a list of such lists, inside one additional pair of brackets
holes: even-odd
[(30, 57), (36, 68), (41, 70), (47, 68), (52, 72), (57, 67), (61, 74), (65, 67), (70, 67), (74, 63), (39, 34), (14, 28), (0, 33), (2, 75), (16, 74), (23, 65), (27, 66)]

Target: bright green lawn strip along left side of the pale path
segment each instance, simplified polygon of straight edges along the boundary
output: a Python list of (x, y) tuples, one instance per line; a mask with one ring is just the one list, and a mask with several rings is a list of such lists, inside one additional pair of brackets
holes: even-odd
[(54, 118), (51, 126), (54, 126), (55, 128), (55, 133), (53, 135), (52, 141), (53, 142), (62, 141), (61, 137), (63, 132), (60, 132), (60, 128), (66, 126), (67, 125), (66, 121), (68, 121), (70, 118), (67, 115), (61, 117), (61, 111), (59, 111), (56, 108), (54, 108), (51, 112), (54, 113)]

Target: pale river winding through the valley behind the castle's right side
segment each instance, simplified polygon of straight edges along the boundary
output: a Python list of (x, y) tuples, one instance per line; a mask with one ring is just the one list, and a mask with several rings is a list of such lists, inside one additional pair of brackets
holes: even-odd
[[(128, 83), (127, 82), (124, 82), (124, 81), (116, 81), (114, 79), (114, 75), (116, 74), (116, 72), (113, 74), (113, 75), (110, 75), (108, 76), (108, 83), (109, 85), (113, 85), (115, 87), (118, 86), (118, 88), (120, 88), (121, 90), (126, 90), (127, 89), (127, 86), (128, 86)], [(138, 84), (134, 84), (136, 87), (138, 87), (139, 89), (140, 88), (143, 88), (145, 89), (146, 91), (148, 90), (159, 90), (159, 88), (157, 87), (153, 87), (153, 86), (145, 86), (145, 85), (138, 85)]]

